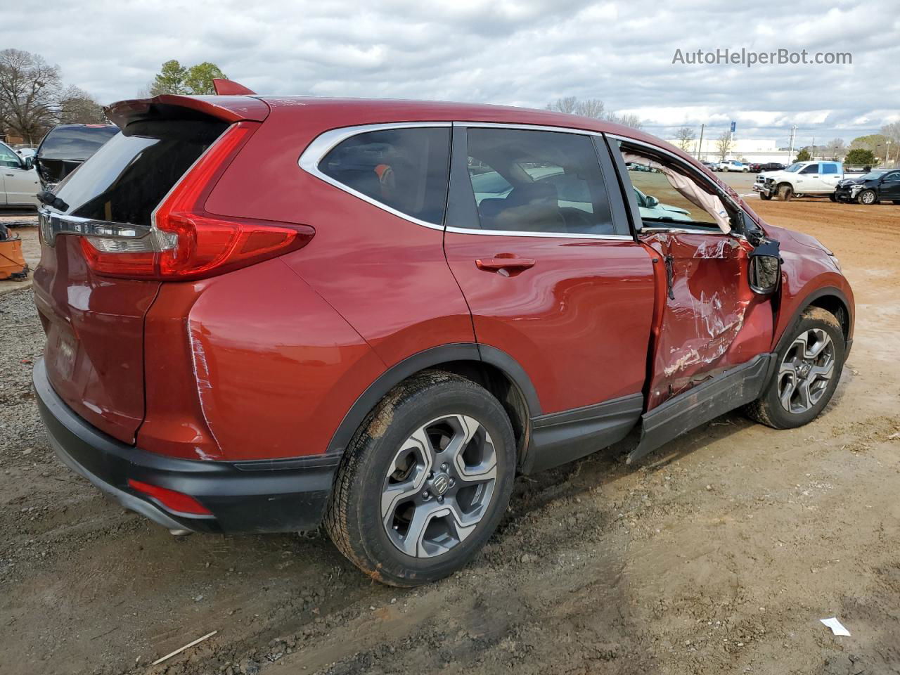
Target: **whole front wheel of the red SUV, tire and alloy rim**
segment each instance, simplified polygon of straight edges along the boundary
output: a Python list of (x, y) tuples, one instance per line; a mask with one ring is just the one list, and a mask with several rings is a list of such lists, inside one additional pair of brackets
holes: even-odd
[(845, 343), (833, 314), (807, 308), (791, 335), (779, 348), (779, 365), (766, 391), (745, 408), (772, 428), (801, 427), (815, 419), (841, 379)]

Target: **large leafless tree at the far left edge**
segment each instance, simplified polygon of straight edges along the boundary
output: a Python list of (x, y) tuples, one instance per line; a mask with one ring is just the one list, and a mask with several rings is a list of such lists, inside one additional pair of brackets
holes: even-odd
[(21, 49), (0, 51), (0, 128), (28, 143), (56, 122), (59, 68)]

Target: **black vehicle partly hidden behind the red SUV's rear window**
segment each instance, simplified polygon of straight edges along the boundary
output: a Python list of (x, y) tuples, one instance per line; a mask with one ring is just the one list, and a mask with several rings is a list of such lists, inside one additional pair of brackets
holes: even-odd
[(114, 124), (59, 124), (40, 141), (35, 166), (40, 184), (51, 189), (119, 132)]

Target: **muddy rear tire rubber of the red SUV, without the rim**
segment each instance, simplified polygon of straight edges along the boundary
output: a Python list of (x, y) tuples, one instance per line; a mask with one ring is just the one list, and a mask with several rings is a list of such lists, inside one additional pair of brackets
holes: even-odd
[[(401, 552), (383, 525), (384, 481), (410, 435), (443, 415), (468, 416), (485, 429), (496, 454), (496, 478), (471, 534), (445, 553), (415, 557)], [(437, 581), (472, 560), (496, 530), (515, 471), (516, 442), (500, 401), (459, 375), (424, 371), (388, 392), (357, 429), (338, 467), (325, 527), (340, 552), (376, 581), (407, 588)]]

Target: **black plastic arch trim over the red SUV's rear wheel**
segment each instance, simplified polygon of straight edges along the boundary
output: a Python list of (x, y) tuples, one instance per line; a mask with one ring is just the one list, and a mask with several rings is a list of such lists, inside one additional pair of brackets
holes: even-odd
[(541, 414), (535, 386), (525, 369), (506, 352), (497, 347), (464, 342), (425, 349), (379, 375), (347, 410), (331, 437), (327, 454), (342, 455), (365, 416), (385, 394), (410, 376), (429, 369), (462, 375), (496, 396), (509, 415), (521, 456), (527, 447), (530, 419)]

